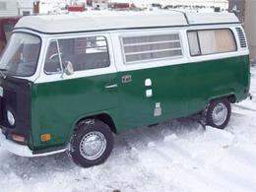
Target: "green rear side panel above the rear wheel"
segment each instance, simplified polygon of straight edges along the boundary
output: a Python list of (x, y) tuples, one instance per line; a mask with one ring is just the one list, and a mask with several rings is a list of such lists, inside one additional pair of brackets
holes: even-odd
[(217, 97), (234, 95), (236, 101), (247, 97), (244, 90), (250, 82), (249, 56), (191, 63), (188, 73), (191, 114)]

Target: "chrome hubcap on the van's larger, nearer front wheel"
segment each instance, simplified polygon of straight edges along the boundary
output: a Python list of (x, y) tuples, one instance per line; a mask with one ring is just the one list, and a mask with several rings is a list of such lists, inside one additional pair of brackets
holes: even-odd
[(98, 131), (86, 134), (80, 142), (80, 154), (87, 160), (96, 160), (104, 153), (106, 140)]

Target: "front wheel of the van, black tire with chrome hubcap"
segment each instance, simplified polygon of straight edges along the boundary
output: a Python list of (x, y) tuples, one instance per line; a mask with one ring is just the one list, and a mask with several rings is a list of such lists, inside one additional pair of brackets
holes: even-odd
[(112, 149), (110, 128), (101, 121), (88, 120), (74, 133), (69, 154), (76, 164), (90, 167), (104, 162)]

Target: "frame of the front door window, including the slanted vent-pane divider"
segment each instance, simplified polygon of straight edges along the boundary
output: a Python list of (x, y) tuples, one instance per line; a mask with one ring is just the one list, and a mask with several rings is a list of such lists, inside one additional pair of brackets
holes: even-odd
[[(104, 69), (104, 68), (109, 68), (111, 66), (111, 55), (110, 55), (110, 47), (109, 47), (109, 43), (108, 43), (108, 38), (107, 38), (107, 35), (105, 34), (101, 34), (101, 33), (98, 33), (98, 34), (88, 34), (88, 35), (83, 35), (83, 34), (76, 34), (76, 35), (65, 35), (65, 36), (55, 36), (55, 37), (50, 37), (48, 40), (47, 40), (47, 45), (46, 45), (46, 49), (45, 49), (45, 53), (43, 55), (43, 67), (42, 67), (42, 70), (43, 70), (43, 73), (46, 75), (46, 76), (51, 76), (51, 75), (61, 75), (61, 74), (64, 74), (64, 68), (63, 68), (63, 63), (62, 63), (62, 58), (61, 58), (61, 55), (59, 54), (60, 53), (60, 47), (59, 47), (59, 40), (65, 40), (65, 39), (76, 39), (76, 38), (87, 38), (87, 37), (103, 37), (105, 42), (106, 42), (106, 48), (107, 48), (107, 54), (108, 54), (108, 59), (109, 59), (109, 65), (107, 67), (103, 67), (103, 68), (95, 68), (95, 69), (87, 69), (87, 70), (80, 70), (80, 71), (74, 71), (74, 73), (78, 73), (78, 72), (86, 72), (86, 71), (91, 71), (91, 70), (97, 70), (97, 69)], [(60, 66), (61, 66), (61, 71), (60, 72), (50, 72), (50, 73), (46, 73), (45, 70), (44, 70), (44, 67), (45, 67), (45, 61), (46, 61), (46, 55), (47, 55), (47, 51), (48, 51), (48, 47), (50, 45), (50, 43), (52, 41), (56, 41), (57, 43), (57, 48), (58, 48), (58, 57), (59, 57), (59, 61), (60, 61)]]

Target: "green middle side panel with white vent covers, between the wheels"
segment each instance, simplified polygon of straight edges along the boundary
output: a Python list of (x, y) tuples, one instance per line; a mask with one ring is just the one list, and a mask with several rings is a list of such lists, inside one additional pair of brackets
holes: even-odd
[[(143, 69), (120, 73), (120, 78), (131, 75), (132, 81), (119, 89), (121, 130), (155, 124), (188, 114), (187, 64)], [(150, 79), (152, 86), (146, 87)], [(147, 97), (146, 91), (153, 96)], [(160, 103), (161, 115), (155, 116)]]

